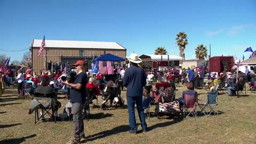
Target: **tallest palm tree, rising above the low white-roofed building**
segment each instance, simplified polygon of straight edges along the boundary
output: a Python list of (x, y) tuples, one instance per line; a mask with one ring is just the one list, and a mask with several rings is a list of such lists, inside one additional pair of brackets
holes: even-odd
[(185, 32), (180, 32), (176, 35), (176, 44), (179, 46), (180, 49), (180, 57), (182, 57), (183, 60), (185, 60), (185, 49), (186, 45), (188, 44), (187, 34)]

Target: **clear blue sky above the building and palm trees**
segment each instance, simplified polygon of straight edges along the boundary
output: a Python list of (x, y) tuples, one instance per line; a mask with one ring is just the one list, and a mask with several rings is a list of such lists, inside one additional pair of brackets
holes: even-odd
[[(118, 42), (131, 52), (154, 54), (163, 46), (179, 55), (175, 37), (188, 35), (186, 59), (211, 44), (212, 56), (256, 50), (256, 1), (0, 1), (0, 49), (22, 50), (32, 39)], [(21, 60), (22, 52), (4, 52)]]

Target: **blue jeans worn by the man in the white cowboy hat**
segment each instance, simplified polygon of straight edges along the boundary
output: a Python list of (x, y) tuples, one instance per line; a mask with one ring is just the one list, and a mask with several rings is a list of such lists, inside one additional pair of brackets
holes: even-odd
[(142, 108), (142, 96), (140, 97), (127, 97), (127, 105), (129, 111), (129, 125), (132, 131), (137, 132), (138, 126), (136, 124), (134, 106), (137, 106), (138, 114), (140, 117), (140, 123), (143, 130), (147, 129), (147, 124), (145, 121), (144, 109)]

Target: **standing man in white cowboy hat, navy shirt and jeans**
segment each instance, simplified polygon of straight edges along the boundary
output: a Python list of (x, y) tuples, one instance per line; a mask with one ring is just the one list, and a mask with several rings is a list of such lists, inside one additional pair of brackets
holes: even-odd
[(139, 66), (139, 63), (141, 63), (141, 59), (138, 58), (137, 54), (132, 53), (130, 57), (126, 58), (131, 63), (131, 67), (126, 69), (123, 78), (123, 85), (127, 87), (126, 96), (129, 111), (129, 132), (137, 134), (138, 126), (136, 125), (134, 114), (135, 103), (137, 105), (137, 110), (140, 117), (143, 132), (147, 132), (147, 124), (145, 121), (144, 109), (142, 108), (142, 94), (143, 86), (146, 85), (146, 74), (145, 71)]

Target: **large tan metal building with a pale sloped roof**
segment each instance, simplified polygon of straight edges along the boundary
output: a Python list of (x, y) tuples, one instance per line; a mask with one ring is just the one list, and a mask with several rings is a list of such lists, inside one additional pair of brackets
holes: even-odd
[[(58, 62), (62, 65), (67, 61), (74, 63), (77, 60), (88, 61), (88, 68), (91, 68), (91, 60), (101, 55), (110, 53), (118, 57), (126, 57), (126, 49), (116, 42), (89, 42), (89, 41), (60, 41), (45, 40), (45, 50), (38, 56), (42, 39), (33, 39), (30, 44), (32, 67), (35, 73), (40, 73), (45, 68), (45, 62)], [(46, 58), (45, 58), (46, 54)], [(125, 62), (121, 62), (121, 66)], [(47, 64), (46, 64), (47, 65)], [(47, 69), (47, 67), (46, 67)]]

